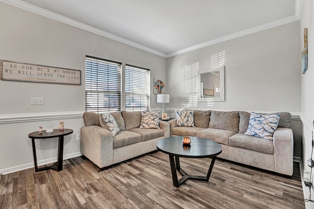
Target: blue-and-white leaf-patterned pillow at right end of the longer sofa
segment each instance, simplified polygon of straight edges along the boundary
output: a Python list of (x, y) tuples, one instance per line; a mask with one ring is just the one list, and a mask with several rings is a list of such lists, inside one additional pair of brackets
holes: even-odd
[(261, 115), (252, 112), (250, 115), (249, 127), (245, 135), (273, 140), (273, 134), (279, 123), (279, 114)]

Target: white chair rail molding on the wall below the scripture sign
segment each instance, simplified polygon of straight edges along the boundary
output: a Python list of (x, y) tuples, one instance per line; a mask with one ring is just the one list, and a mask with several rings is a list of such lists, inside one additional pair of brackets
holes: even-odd
[(82, 118), (84, 112), (85, 111), (4, 114), (0, 115), (0, 124)]

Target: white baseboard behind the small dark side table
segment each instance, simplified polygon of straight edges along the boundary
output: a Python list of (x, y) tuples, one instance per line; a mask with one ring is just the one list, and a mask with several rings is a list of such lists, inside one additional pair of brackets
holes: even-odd
[[(63, 155), (63, 160), (75, 158), (75, 157), (78, 157), (81, 155), (82, 154), (80, 152)], [(45, 164), (55, 163), (55, 162), (57, 162), (57, 157), (38, 161), (37, 164), (38, 164), (38, 166), (40, 166), (40, 165), (45, 165)], [(34, 167), (34, 163), (26, 163), (26, 164), (22, 164), (22, 165), (17, 165), (17, 166), (13, 166), (13, 167), (9, 167), (9, 168), (0, 169), (0, 173), (2, 173), (2, 175), (5, 175), (5, 174), (17, 172), (20, 170), (25, 170), (25, 169), (32, 168), (32, 167)]]

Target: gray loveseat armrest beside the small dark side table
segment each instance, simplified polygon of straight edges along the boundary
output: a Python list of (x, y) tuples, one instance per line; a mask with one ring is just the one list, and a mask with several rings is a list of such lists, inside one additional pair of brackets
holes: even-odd
[(80, 152), (98, 167), (103, 168), (113, 161), (113, 137), (107, 129), (92, 125), (80, 129)]

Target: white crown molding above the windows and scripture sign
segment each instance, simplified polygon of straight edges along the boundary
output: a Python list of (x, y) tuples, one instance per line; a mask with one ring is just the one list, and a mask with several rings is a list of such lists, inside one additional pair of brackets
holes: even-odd
[(90, 26), (88, 24), (81, 23), (81, 22), (78, 22), (78, 21), (73, 20), (71, 18), (64, 17), (64, 16), (59, 15), (57, 13), (51, 12), (49, 10), (43, 9), (41, 7), (35, 6), (33, 4), (30, 4), (30, 3), (27, 3), (25, 1), (21, 1), (21, 0), (0, 0), (0, 1), (7, 3), (7, 4), (10, 4), (10, 5), (13, 5), (13, 6), (16, 6), (16, 7), (19, 7), (21, 9), (25, 9), (27, 11), (30, 11), (30, 12), (33, 12), (36, 14), (51, 18), (51, 19), (59, 21), (61, 23), (66, 23), (66, 24), (72, 25), (74, 27), (78, 27), (80, 29), (95, 33), (97, 35), (104, 36), (108, 39), (112, 39), (114, 41), (142, 49), (144, 51), (156, 54), (158, 56), (166, 57), (166, 54), (163, 52), (157, 51), (157, 50), (152, 49), (152, 48), (147, 47), (147, 46), (143, 46), (143, 45), (138, 44), (136, 42), (132, 42), (128, 39), (122, 38), (122, 37), (114, 35), (112, 33), (108, 33), (104, 30), (98, 29), (98, 28)]

